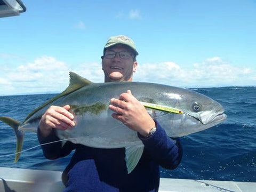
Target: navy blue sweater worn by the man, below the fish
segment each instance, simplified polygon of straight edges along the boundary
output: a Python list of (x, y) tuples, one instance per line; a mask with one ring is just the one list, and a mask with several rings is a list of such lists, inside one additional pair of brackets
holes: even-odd
[[(61, 142), (42, 146), (46, 158), (67, 156), (76, 149), (69, 165), (62, 173), (66, 191), (158, 191), (159, 166), (175, 169), (181, 161), (182, 148), (178, 138), (167, 137), (156, 122), (156, 132), (148, 138), (138, 137), (145, 145), (142, 157), (135, 169), (127, 174), (125, 149), (98, 149), (80, 144)], [(128, 129), (128, 128), (127, 128)], [(44, 138), (38, 130), (40, 143), (57, 141), (52, 133)]]

